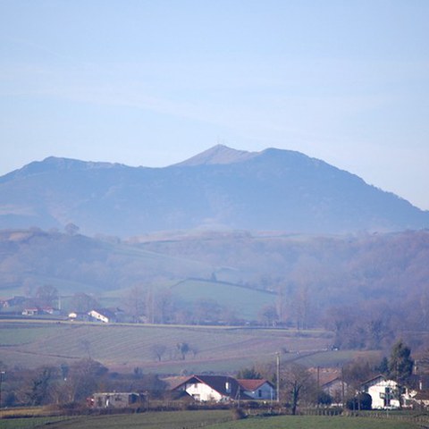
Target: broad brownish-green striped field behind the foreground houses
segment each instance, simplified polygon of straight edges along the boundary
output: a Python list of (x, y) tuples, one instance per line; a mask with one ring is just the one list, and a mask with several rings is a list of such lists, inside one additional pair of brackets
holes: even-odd
[[(192, 350), (184, 360), (177, 356), (178, 342), (187, 342)], [(92, 357), (120, 372), (139, 366), (146, 372), (178, 374), (235, 371), (271, 362), (279, 350), (282, 362), (305, 361), (311, 366), (318, 361), (335, 365), (353, 357), (350, 352), (326, 351), (331, 342), (331, 332), (317, 330), (28, 320), (0, 324), (1, 360), (6, 366), (24, 367)], [(154, 354), (156, 344), (166, 348), (160, 362)]]

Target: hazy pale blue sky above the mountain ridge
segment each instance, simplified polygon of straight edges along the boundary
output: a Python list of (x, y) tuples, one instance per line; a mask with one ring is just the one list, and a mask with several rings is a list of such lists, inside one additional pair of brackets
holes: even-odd
[(0, 174), (299, 150), (429, 209), (429, 1), (0, 0)]

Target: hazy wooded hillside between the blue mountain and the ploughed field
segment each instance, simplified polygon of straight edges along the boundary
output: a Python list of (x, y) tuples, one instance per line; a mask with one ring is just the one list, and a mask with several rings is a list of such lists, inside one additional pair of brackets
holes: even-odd
[[(206, 314), (211, 322), (324, 325), (349, 347), (429, 328), (427, 230), (347, 237), (193, 232), (121, 242), (33, 229), (3, 231), (0, 253), (3, 298), (51, 284), (64, 295), (109, 295), (123, 306), (139, 290), (142, 301), (164, 294), (166, 305), (168, 297), (168, 315), (153, 309), (155, 322), (200, 324), (206, 320), (197, 314)], [(143, 302), (141, 308), (147, 312)]]

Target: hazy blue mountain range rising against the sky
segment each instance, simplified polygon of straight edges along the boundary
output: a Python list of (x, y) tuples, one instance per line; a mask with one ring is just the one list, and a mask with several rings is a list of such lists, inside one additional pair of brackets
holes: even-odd
[(299, 152), (217, 145), (163, 168), (48, 157), (0, 177), (0, 228), (141, 235), (209, 230), (349, 233), (429, 226), (429, 212)]

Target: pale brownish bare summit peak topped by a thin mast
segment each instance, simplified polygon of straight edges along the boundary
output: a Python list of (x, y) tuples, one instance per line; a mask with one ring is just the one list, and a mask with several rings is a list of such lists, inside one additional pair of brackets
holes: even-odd
[(249, 158), (257, 156), (257, 152), (248, 152), (246, 150), (236, 150), (224, 145), (215, 145), (196, 156), (192, 156), (176, 165), (193, 166), (207, 164), (234, 164), (246, 161)]

